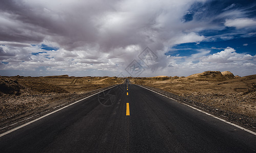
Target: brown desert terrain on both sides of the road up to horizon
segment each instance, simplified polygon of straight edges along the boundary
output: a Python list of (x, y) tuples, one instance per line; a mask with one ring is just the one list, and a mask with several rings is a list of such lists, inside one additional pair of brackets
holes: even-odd
[[(256, 130), (256, 75), (239, 77), (229, 71), (205, 71), (188, 77), (160, 75), (128, 79), (132, 84)], [(125, 80), (68, 75), (0, 77), (0, 130), (17, 120), (52, 111)]]

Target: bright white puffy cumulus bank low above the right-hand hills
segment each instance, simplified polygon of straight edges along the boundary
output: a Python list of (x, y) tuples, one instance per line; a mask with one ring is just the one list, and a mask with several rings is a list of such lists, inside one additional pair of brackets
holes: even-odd
[[(256, 55), (236, 53), (235, 49), (227, 47), (221, 52), (209, 54), (210, 50), (200, 49), (198, 53), (188, 57), (169, 56), (168, 72), (184, 74), (199, 73), (206, 70), (230, 70), (236, 75), (253, 74), (256, 72)], [(248, 72), (250, 69), (250, 72)], [(247, 73), (245, 71), (247, 70)], [(168, 74), (167, 74), (168, 75)]]

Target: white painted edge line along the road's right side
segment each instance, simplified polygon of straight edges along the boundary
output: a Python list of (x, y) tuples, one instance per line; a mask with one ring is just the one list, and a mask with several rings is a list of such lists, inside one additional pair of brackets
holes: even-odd
[[(134, 85), (135, 85), (135, 84), (134, 84)], [(136, 86), (140, 86), (140, 85), (136, 85)], [(142, 86), (140, 86), (140, 87), (142, 87)], [(142, 87), (142, 88), (145, 88), (145, 87)], [(145, 88), (145, 89), (148, 89), (148, 88)], [(148, 90), (150, 90), (150, 89), (148, 89)], [(150, 91), (155, 92), (155, 91), (153, 91), (153, 90), (150, 90)], [(158, 92), (155, 92), (155, 93), (160, 94), (160, 95), (162, 95), (162, 96), (164, 96), (164, 97), (167, 97), (167, 98), (169, 98), (169, 99), (172, 99), (172, 100), (174, 100), (174, 101), (177, 101), (177, 100), (175, 100), (175, 99), (173, 99), (173, 98), (170, 98), (170, 97), (168, 97), (168, 96), (166, 96), (166, 95), (163, 95), (163, 94), (161, 94), (161, 93), (158, 93)], [(216, 117), (216, 116), (214, 116), (214, 115), (212, 115), (212, 114), (209, 114), (209, 113), (204, 112), (204, 111), (202, 111), (202, 110), (200, 110), (200, 109), (197, 109), (197, 108), (194, 108), (194, 107), (192, 107), (192, 106), (189, 106), (189, 105), (187, 105), (187, 104), (185, 104), (185, 103), (181, 103), (181, 104), (186, 105), (186, 106), (188, 106), (188, 107), (190, 107), (190, 108), (192, 108), (192, 109), (195, 109), (195, 110), (197, 110), (197, 111), (199, 111), (199, 112), (202, 112), (202, 113), (204, 113), (204, 114), (206, 114), (206, 115), (209, 115), (209, 116), (211, 116), (211, 117), (214, 117), (214, 118), (216, 118), (216, 119), (219, 119), (219, 120), (221, 120), (221, 121), (223, 121), (223, 122), (225, 122), (225, 123), (228, 123), (228, 124), (230, 124), (230, 125), (233, 125), (233, 126), (235, 126), (235, 127), (238, 127), (239, 129), (242, 129), (242, 130), (244, 130), (244, 131), (246, 131), (246, 132), (249, 132), (249, 133), (251, 133), (251, 134), (253, 134), (253, 135), (256, 136), (256, 133), (255, 133), (255, 132), (250, 131), (250, 130), (248, 130), (248, 129), (245, 129), (245, 128), (242, 127), (242, 126), (239, 126), (239, 125), (237, 125), (237, 124), (231, 123), (231, 122), (229, 122), (229, 121), (227, 121), (227, 120), (225, 120), (225, 119)]]

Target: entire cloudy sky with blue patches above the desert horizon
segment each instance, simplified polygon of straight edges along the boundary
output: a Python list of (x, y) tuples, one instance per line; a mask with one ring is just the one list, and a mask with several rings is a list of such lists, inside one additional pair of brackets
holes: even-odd
[(256, 74), (256, 1), (2, 0), (0, 75)]

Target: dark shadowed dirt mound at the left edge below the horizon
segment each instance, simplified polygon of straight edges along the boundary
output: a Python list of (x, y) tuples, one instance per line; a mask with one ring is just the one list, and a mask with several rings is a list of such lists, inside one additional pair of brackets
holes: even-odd
[(0, 94), (21, 94), (21, 89), (24, 88), (23, 86), (19, 85), (16, 80), (0, 77)]

